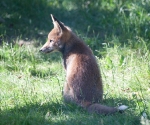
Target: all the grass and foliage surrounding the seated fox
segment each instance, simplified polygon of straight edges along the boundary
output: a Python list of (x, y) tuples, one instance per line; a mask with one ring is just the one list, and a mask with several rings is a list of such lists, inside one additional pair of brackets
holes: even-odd
[[(50, 14), (93, 50), (105, 105), (128, 105), (112, 116), (63, 103), (61, 55), (38, 52), (53, 27)], [(1, 0), (1, 125), (149, 125), (149, 0)], [(18, 44), (19, 43), (19, 44)]]

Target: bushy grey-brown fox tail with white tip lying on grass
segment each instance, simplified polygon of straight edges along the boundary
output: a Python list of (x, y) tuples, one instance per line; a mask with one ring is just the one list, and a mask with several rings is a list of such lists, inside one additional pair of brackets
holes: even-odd
[(101, 104), (92, 104), (87, 107), (89, 113), (96, 113), (96, 114), (113, 114), (115, 112), (122, 112), (126, 110), (128, 106), (121, 105), (119, 107), (108, 107)]

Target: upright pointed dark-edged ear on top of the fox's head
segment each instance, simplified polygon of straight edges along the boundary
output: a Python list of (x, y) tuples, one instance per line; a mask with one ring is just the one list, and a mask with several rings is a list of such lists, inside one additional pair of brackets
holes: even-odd
[(59, 32), (62, 33), (62, 31), (65, 29), (65, 26), (62, 22), (60, 22), (59, 20), (57, 20), (52, 14), (51, 14), (51, 18), (54, 24), (54, 28), (57, 28), (59, 30)]

